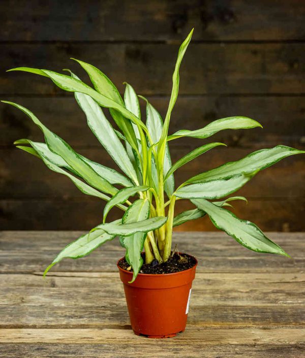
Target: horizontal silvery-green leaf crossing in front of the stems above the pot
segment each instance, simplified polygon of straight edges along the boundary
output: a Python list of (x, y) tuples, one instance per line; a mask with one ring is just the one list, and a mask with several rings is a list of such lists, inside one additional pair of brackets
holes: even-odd
[(165, 224), (166, 220), (167, 217), (156, 216), (135, 223), (114, 224), (110, 222), (97, 226), (97, 229), (102, 229), (108, 234), (129, 236), (135, 233), (148, 233), (149, 231), (159, 229), (159, 227)]

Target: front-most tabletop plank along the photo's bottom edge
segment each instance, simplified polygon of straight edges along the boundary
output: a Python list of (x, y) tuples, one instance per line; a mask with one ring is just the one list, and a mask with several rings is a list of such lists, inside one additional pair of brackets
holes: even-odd
[[(123, 332), (124, 333), (124, 332)], [(160, 342), (151, 342), (151, 340), (142, 341), (141, 346), (132, 346), (130, 344), (3, 344), (1, 346), (4, 358), (15, 358), (25, 355), (27, 358), (74, 358), (88, 356), (92, 358), (142, 358), (143, 352), (156, 358), (172, 358), (174, 355), (180, 355), (187, 358), (236, 358), (236, 357), (255, 357), (255, 358), (295, 358), (302, 357), (304, 354), (303, 344), (252, 344), (252, 345), (204, 345), (200, 343), (172, 346), (168, 345), (169, 340)], [(118, 351), (117, 351), (118, 350)]]

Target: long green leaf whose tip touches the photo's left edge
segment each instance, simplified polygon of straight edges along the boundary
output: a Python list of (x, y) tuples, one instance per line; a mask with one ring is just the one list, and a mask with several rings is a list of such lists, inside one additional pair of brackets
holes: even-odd
[(111, 185), (107, 180), (98, 175), (63, 139), (59, 138), (53, 132), (51, 132), (41, 121), (28, 109), (22, 107), (16, 103), (2, 101), (8, 103), (14, 107), (17, 107), (22, 112), (24, 112), (29, 118), (33, 120), (35, 124), (41, 129), (45, 136), (46, 143), (49, 149), (56, 154), (60, 155), (68, 165), (82, 177), (88, 184), (94, 186), (95, 188), (109, 193), (115, 194), (118, 189)]

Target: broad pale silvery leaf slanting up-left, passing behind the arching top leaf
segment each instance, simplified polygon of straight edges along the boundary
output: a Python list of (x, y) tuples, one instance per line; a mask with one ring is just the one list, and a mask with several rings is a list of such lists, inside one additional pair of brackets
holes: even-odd
[[(76, 77), (74, 74), (72, 74), (72, 76)], [(99, 142), (107, 150), (118, 167), (123, 170), (134, 183), (138, 184), (137, 174), (132, 162), (130, 161), (123, 144), (118, 139), (112, 125), (105, 117), (101, 107), (87, 94), (75, 92), (75, 98), (86, 115), (89, 128)]]

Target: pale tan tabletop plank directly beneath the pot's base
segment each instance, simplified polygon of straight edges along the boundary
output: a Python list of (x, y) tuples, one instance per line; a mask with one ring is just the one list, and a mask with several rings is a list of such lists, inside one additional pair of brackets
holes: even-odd
[[(0, 343), (128, 343), (143, 345), (143, 337), (136, 336), (132, 330), (112, 329), (2, 329)], [(214, 344), (304, 344), (305, 329), (273, 328), (269, 330), (244, 329), (206, 329), (197, 326), (184, 334), (166, 341), (153, 341), (149, 345), (163, 347), (194, 344), (202, 346)], [(147, 344), (146, 342), (144, 344)]]

